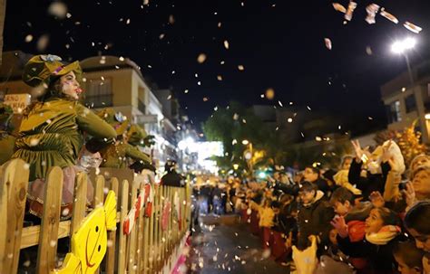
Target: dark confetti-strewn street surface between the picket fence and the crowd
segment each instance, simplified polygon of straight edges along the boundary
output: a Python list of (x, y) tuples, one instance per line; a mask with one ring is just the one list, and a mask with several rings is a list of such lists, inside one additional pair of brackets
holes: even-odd
[(289, 273), (262, 250), (261, 241), (232, 215), (201, 218), (192, 238), (188, 273)]

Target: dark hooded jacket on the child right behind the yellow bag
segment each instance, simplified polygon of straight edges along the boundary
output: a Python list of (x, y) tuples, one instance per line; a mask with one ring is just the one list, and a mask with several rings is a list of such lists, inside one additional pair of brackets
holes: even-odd
[(332, 226), (330, 221), (335, 216), (333, 208), (328, 206), (327, 201), (323, 199), (324, 193), (317, 191), (314, 201), (308, 204), (302, 204), (298, 211), (298, 237), (299, 248), (308, 246), (308, 236), (319, 236), (320, 245), (328, 243), (328, 234)]

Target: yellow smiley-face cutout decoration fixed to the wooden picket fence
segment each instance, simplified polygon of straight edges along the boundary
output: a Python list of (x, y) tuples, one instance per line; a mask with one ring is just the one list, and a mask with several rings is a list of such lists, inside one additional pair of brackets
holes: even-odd
[(83, 219), (72, 236), (72, 252), (67, 253), (61, 269), (51, 273), (92, 274), (99, 268), (107, 249), (107, 231), (116, 229), (116, 197), (107, 194), (104, 205)]

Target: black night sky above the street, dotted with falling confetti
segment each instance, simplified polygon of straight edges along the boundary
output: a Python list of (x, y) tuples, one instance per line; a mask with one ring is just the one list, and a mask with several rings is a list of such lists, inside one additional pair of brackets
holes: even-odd
[[(142, 67), (145, 78), (174, 90), (196, 125), (215, 106), (236, 99), (278, 107), (278, 101), (284, 106), (293, 101), (312, 111), (342, 115), (347, 127), (381, 128), (386, 115), (379, 86), (406, 70), (405, 60), (390, 52), (391, 43), (413, 36), (418, 40), (410, 52), (413, 64), (430, 58), (430, 2), (425, 0), (357, 1), (348, 24), (332, 2), (323, 0), (150, 0), (148, 5), (136, 0), (64, 1), (71, 14), (64, 19), (48, 14), (52, 3), (9, 0), (4, 50), (40, 53), (37, 41), (48, 34), (43, 52), (64, 60), (128, 57)], [(367, 24), (370, 3), (385, 7), (400, 23), (376, 14), (376, 24)], [(406, 30), (405, 21), (423, 31)], [(33, 41), (27, 43), (29, 34)], [(200, 53), (207, 56), (203, 63), (197, 61)], [(261, 99), (269, 88), (275, 90), (275, 99)], [(209, 100), (203, 101), (205, 97)]]

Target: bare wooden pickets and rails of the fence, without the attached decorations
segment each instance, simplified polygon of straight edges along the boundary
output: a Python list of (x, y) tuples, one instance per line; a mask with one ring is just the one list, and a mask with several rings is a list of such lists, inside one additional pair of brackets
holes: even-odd
[[(117, 230), (108, 231), (108, 248), (96, 273), (169, 273), (181, 255), (188, 236), (190, 188), (152, 185), (154, 200), (151, 215), (144, 217), (143, 208), (132, 232), (126, 235), (122, 230), (123, 222), (142, 191), (144, 178), (135, 175), (132, 182), (122, 180), (120, 183), (112, 173), (106, 180), (103, 175), (96, 175), (93, 182), (93, 208), (104, 202), (107, 190), (117, 194)], [(38, 246), (36, 273), (50, 273), (57, 263), (58, 239), (73, 235), (88, 213), (85, 205), (88, 177), (81, 173), (75, 181), (73, 217), (60, 222), (63, 171), (54, 167), (47, 177), (44, 204), (50, 206), (44, 206), (41, 225), (23, 228), (28, 174), (28, 166), (20, 159), (12, 160), (0, 168), (0, 273), (16, 273), (20, 250), (32, 246)], [(173, 214), (175, 194), (181, 202), (179, 220)], [(171, 203), (171, 211), (168, 212), (167, 229), (163, 230), (161, 214), (167, 203)]]

